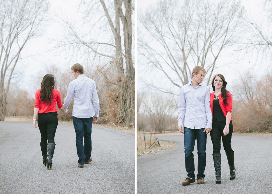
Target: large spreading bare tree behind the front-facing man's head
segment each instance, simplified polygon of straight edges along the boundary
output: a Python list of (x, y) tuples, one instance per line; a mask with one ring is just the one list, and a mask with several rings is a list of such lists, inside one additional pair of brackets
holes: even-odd
[(240, 1), (197, 0), (160, 0), (140, 12), (139, 58), (168, 80), (167, 86), (151, 87), (177, 95), (170, 86), (187, 84), (196, 65), (206, 69), (208, 85), (222, 51), (237, 42), (242, 14)]

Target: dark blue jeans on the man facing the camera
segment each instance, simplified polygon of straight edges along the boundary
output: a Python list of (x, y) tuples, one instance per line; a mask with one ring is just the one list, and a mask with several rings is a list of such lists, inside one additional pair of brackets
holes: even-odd
[(202, 129), (189, 129), (184, 127), (184, 152), (185, 152), (185, 168), (188, 173), (188, 177), (195, 178), (195, 162), (193, 150), (195, 147), (195, 139), (197, 139), (197, 178), (202, 177), (204, 179), (204, 171), (206, 168), (206, 142), (207, 134)]

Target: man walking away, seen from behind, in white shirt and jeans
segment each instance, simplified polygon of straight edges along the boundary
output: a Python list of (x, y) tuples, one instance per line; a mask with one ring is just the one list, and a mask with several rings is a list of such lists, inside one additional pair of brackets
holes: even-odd
[[(63, 107), (66, 110), (74, 97), (73, 122), (76, 134), (78, 167), (92, 161), (92, 122), (98, 121), (99, 100), (96, 92), (96, 83), (83, 73), (83, 66), (76, 63), (71, 67), (75, 80), (69, 83)], [(93, 104), (92, 104), (93, 101)], [(84, 137), (84, 145), (83, 145)]]

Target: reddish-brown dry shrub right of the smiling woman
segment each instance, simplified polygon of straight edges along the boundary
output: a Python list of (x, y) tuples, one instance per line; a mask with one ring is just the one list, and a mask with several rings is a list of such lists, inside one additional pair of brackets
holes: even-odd
[(236, 83), (232, 106), (234, 131), (271, 133), (271, 73), (257, 80), (246, 72)]

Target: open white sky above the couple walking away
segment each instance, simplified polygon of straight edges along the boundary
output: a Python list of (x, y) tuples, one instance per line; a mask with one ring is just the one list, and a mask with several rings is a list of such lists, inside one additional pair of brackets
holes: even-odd
[[(58, 15), (64, 13), (71, 18), (75, 18), (78, 15), (78, 5), (81, 1), (74, 0), (49, 0), (51, 3), (50, 14)], [(135, 13), (135, 12), (134, 12)], [(132, 15), (133, 21), (135, 21), (135, 14)], [(134, 22), (135, 23), (135, 22)], [(29, 83), (29, 77), (37, 74), (45, 64), (54, 63), (59, 65), (61, 69), (69, 69), (75, 63), (80, 63), (84, 66), (84, 63), (80, 57), (72, 58), (63, 51), (62, 54), (56, 54), (55, 52), (48, 52), (54, 45), (49, 44), (48, 39), (59, 33), (59, 24), (52, 22), (46, 29), (45, 34), (42, 37), (38, 37), (30, 40), (24, 47), (21, 56), (29, 56), (22, 60), (22, 63), (27, 64), (25, 69), (24, 78), (18, 83), (21, 88), (26, 88)], [(35, 56), (36, 55), (36, 56)], [(71, 61), (70, 61), (71, 60)]]

